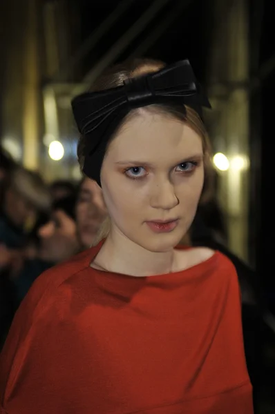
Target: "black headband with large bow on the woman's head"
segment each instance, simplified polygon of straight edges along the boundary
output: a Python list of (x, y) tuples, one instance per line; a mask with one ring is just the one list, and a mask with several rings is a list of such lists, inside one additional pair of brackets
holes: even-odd
[(100, 186), (100, 170), (112, 133), (133, 108), (167, 103), (189, 106), (202, 117), (202, 106), (211, 108), (200, 93), (188, 60), (133, 79), (123, 86), (87, 92), (72, 101), (79, 132), (86, 137), (84, 173)]

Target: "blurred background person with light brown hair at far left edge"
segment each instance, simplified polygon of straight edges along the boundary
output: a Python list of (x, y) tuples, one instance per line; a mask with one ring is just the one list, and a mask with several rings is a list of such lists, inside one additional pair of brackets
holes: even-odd
[(10, 278), (23, 262), (28, 225), (50, 207), (50, 194), (35, 172), (17, 166), (5, 179), (0, 206), (0, 345), (17, 308)]

